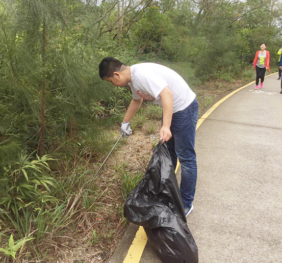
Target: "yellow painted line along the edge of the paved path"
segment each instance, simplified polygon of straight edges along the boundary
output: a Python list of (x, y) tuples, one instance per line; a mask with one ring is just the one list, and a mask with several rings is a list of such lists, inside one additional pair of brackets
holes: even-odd
[[(277, 74), (278, 72), (269, 74), (265, 77)], [(196, 126), (196, 130), (199, 128), (199, 126), (203, 123), (204, 120), (206, 120), (210, 114), (222, 103), (224, 102), (227, 98), (231, 97), (232, 95), (234, 95), (236, 92), (254, 84), (255, 82), (250, 82), (249, 84), (238, 88), (237, 90), (234, 90), (233, 92), (229, 93), (228, 95), (226, 95), (225, 97), (223, 97), (222, 99), (220, 99), (219, 101), (217, 101), (206, 113), (204, 113), (202, 115), (201, 118), (198, 119), (197, 122), (197, 126)], [(176, 165), (176, 169), (175, 169), (175, 174), (178, 170), (180, 166), (180, 162), (177, 160), (177, 165)], [(147, 244), (147, 235), (145, 233), (145, 230), (142, 226), (139, 227), (139, 229), (137, 230), (136, 234), (135, 234), (135, 238), (129, 248), (129, 251), (126, 254), (126, 257), (124, 258), (123, 263), (138, 263), (142, 257), (144, 248)]]

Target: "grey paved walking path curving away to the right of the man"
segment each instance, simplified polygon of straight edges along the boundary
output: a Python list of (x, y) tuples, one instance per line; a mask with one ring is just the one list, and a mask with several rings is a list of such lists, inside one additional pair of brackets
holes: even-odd
[[(188, 226), (200, 263), (282, 262), (282, 94), (277, 74), (264, 85), (256, 91), (252, 84), (230, 96), (197, 130), (198, 180)], [(142, 234), (128, 252), (137, 229), (130, 225), (111, 263), (138, 263), (138, 248), (141, 263), (161, 263), (148, 244), (143, 251)]]

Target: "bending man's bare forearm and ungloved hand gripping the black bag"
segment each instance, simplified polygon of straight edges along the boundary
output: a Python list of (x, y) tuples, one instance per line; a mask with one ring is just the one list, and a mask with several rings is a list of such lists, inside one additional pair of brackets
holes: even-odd
[(163, 105), (163, 126), (160, 130), (160, 140), (162, 143), (167, 142), (171, 138), (170, 124), (173, 112), (173, 96), (168, 87), (165, 87), (159, 94)]

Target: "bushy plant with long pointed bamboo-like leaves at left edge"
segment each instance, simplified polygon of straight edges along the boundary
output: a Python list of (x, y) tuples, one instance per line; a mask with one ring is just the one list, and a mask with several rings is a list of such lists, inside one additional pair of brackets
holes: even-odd
[[(0, 205), (16, 214), (22, 207), (41, 202), (56, 202), (50, 188), (56, 187), (56, 179), (50, 176), (49, 155), (32, 160), (31, 155), (19, 155), (18, 161), (4, 166), (0, 184)], [(35, 206), (36, 207), (36, 206)]]

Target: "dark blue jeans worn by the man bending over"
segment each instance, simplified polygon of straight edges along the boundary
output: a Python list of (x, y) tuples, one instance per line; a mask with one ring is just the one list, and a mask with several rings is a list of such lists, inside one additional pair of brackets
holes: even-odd
[(170, 126), (172, 137), (167, 142), (174, 169), (177, 157), (181, 164), (180, 193), (184, 206), (191, 206), (196, 190), (197, 161), (194, 147), (198, 112), (195, 98), (185, 110), (173, 113)]

